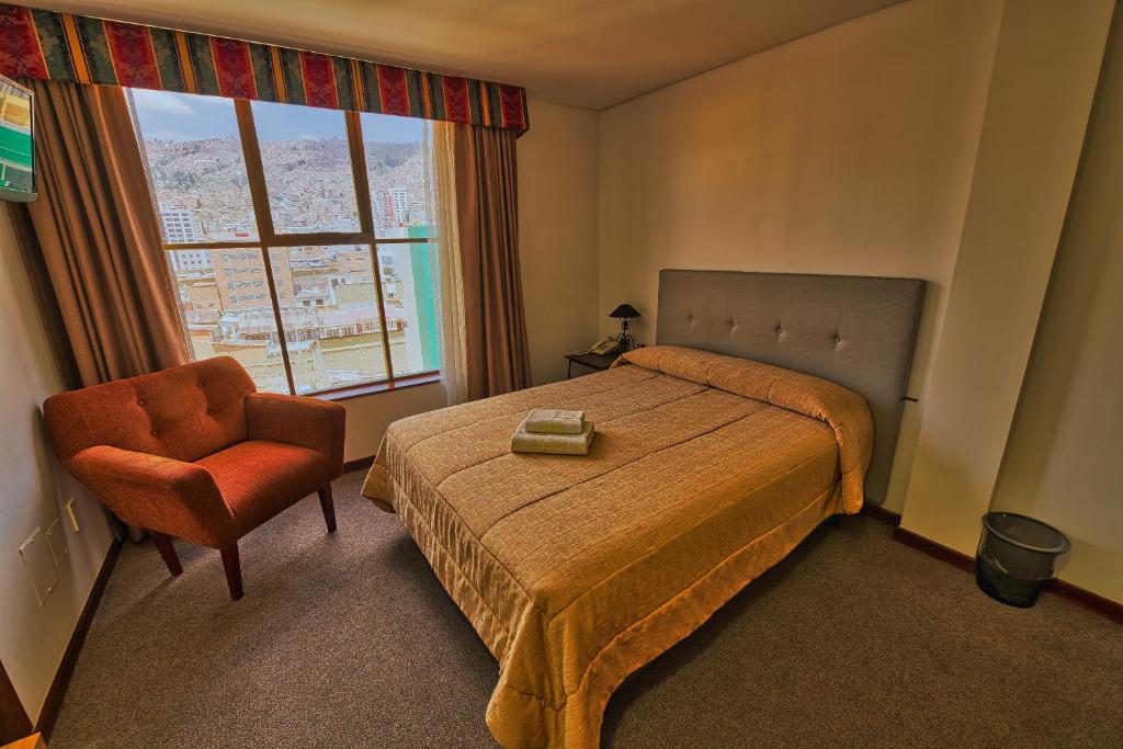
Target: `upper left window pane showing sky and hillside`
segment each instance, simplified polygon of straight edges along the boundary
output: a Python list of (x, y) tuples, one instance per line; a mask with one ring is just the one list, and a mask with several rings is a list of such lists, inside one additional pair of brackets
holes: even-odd
[(256, 239), (234, 102), (141, 89), (129, 98), (164, 241)]

